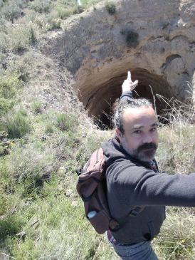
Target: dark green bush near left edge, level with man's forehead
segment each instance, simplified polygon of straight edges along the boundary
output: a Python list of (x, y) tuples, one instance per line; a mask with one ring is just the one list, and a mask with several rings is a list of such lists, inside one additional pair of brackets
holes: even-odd
[(12, 115), (6, 123), (6, 130), (9, 138), (21, 138), (30, 132), (31, 126), (26, 112), (19, 110), (18, 113)]

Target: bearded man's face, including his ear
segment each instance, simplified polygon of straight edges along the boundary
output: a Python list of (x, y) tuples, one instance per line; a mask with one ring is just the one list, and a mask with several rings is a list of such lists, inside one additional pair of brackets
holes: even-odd
[(122, 115), (124, 133), (116, 129), (122, 147), (132, 157), (149, 162), (158, 146), (157, 117), (154, 109), (142, 106), (127, 108)]

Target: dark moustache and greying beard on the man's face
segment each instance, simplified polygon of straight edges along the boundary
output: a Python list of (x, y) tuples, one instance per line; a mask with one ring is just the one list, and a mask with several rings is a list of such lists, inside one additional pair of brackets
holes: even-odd
[[(125, 137), (123, 137), (125, 138)], [(126, 145), (126, 140), (122, 140), (122, 147), (125, 151), (131, 155), (132, 157), (142, 161), (142, 162), (149, 162), (154, 159), (154, 155), (157, 151), (157, 144), (154, 142), (147, 142), (143, 145), (139, 145), (137, 149), (132, 150)]]

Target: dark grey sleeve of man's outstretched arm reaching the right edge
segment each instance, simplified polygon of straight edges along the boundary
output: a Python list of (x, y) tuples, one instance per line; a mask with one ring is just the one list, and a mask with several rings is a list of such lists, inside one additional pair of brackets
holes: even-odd
[(154, 172), (144, 167), (120, 167), (115, 175), (115, 191), (126, 207), (183, 206), (195, 207), (195, 173), (189, 175)]

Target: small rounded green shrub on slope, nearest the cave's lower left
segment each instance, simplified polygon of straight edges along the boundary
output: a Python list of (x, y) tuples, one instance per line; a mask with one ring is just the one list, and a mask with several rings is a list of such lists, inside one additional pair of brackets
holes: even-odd
[(57, 116), (57, 125), (60, 130), (71, 131), (78, 126), (78, 118), (73, 114), (60, 114)]

